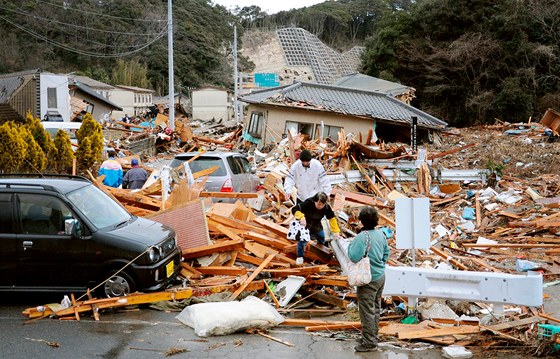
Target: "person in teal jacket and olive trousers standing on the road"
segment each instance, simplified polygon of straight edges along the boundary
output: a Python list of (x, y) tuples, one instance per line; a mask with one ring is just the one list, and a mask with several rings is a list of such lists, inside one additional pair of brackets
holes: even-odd
[(379, 341), (381, 293), (385, 286), (385, 264), (389, 259), (389, 245), (383, 232), (375, 229), (379, 222), (379, 215), (375, 208), (363, 207), (358, 219), (363, 228), (348, 245), (348, 258), (352, 262), (358, 263), (366, 255), (369, 257), (371, 282), (357, 287), (362, 338), (354, 350), (370, 352), (377, 350)]

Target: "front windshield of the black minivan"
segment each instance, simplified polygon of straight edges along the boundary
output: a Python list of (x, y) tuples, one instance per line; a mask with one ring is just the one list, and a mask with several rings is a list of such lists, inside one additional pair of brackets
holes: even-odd
[(68, 200), (101, 229), (130, 220), (130, 214), (97, 187), (85, 186), (68, 193)]

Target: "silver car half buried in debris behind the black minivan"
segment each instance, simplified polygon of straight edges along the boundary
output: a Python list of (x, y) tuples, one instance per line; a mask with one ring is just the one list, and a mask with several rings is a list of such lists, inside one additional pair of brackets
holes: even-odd
[[(256, 192), (259, 179), (245, 156), (236, 152), (206, 152), (191, 163), (188, 160), (198, 156), (196, 152), (181, 153), (171, 162), (172, 168), (184, 164), (192, 173), (214, 166), (218, 169), (211, 173), (205, 184), (208, 192)], [(179, 171), (183, 173), (184, 171)]]

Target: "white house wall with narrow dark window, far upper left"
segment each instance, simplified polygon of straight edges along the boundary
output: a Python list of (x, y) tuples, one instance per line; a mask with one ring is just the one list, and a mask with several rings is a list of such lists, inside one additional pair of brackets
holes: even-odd
[[(41, 113), (39, 118), (42, 120), (47, 111), (57, 111), (64, 121), (70, 121), (70, 94), (68, 93), (68, 78), (65, 75), (55, 75), (42, 73), (40, 79), (40, 99)], [(48, 107), (48, 89), (56, 89), (56, 108)]]

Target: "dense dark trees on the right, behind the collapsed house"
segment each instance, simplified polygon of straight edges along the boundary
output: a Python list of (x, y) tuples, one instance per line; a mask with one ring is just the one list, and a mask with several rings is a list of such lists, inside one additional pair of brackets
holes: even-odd
[(559, 45), (557, 0), (424, 0), (383, 19), (364, 71), (452, 125), (540, 120), (560, 108)]

